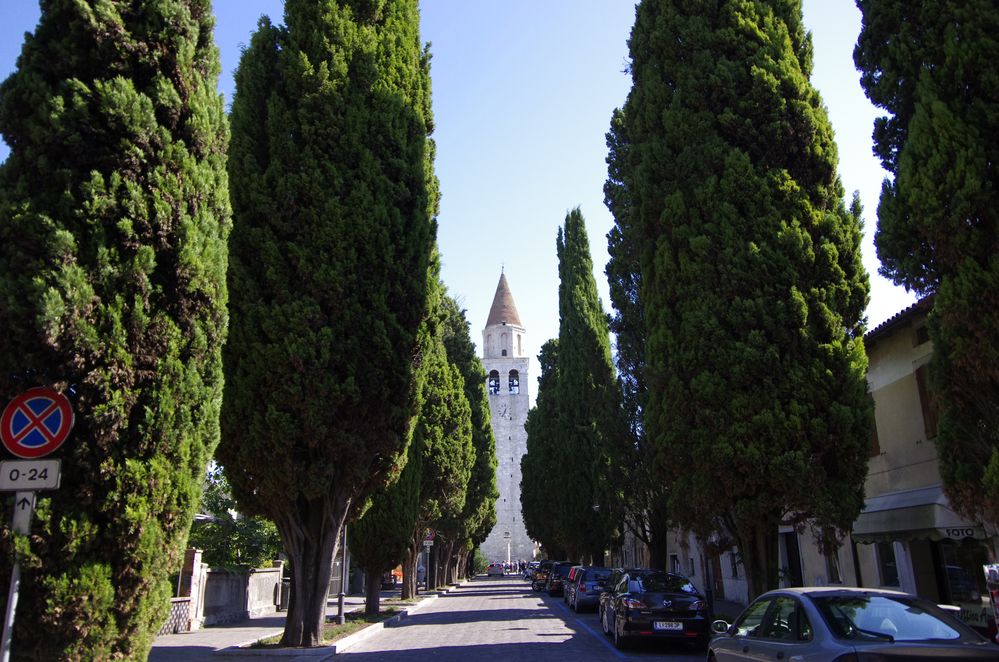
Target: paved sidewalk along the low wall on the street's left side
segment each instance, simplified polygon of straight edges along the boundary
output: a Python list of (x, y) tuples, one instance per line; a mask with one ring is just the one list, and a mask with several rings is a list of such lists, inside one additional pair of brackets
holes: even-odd
[[(381, 599), (398, 598), (399, 589), (382, 591)], [(424, 595), (421, 593), (421, 595)], [(344, 598), (344, 611), (352, 612), (364, 609), (363, 595), (348, 595)], [(326, 615), (336, 617), (339, 613), (336, 600), (326, 605)], [(243, 646), (260, 639), (279, 635), (284, 632), (285, 612), (275, 612), (266, 616), (250, 618), (239, 623), (227, 625), (212, 625), (195, 632), (180, 632), (178, 634), (162, 634), (153, 642), (149, 653), (149, 662), (238, 662), (239, 660), (263, 660), (256, 655), (235, 655), (217, 653), (222, 649)], [(300, 662), (310, 660), (316, 662), (323, 657), (329, 657), (329, 649), (303, 649), (272, 652), (267, 657), (278, 657), (282, 662)], [(318, 655), (318, 657), (317, 657)]]

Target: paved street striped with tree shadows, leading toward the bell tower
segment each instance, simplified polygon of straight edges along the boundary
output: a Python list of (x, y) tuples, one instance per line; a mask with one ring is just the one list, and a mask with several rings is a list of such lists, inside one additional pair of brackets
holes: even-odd
[(480, 577), (337, 658), (346, 662), (704, 659), (703, 652), (685, 645), (649, 642), (653, 643), (618, 651), (600, 631), (596, 614), (574, 614), (561, 598), (534, 593), (519, 578)]

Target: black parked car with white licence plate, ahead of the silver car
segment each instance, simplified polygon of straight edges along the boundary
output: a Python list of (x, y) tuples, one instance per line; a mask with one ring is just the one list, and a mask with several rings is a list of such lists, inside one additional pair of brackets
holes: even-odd
[(600, 624), (625, 648), (634, 639), (670, 639), (706, 646), (708, 605), (689, 579), (665, 570), (621, 572), (600, 596)]

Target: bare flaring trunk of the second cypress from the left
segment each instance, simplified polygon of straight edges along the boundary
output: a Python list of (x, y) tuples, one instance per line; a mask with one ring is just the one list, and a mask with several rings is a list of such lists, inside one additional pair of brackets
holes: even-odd
[(333, 558), (340, 545), (349, 499), (302, 501), (275, 518), (291, 560), (291, 597), (281, 645), (321, 646)]

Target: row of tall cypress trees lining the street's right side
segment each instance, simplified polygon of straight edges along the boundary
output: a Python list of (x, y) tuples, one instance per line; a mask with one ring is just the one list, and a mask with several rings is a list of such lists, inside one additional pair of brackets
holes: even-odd
[[(874, 130), (892, 175), (881, 272), (935, 297), (941, 474), (961, 512), (996, 522), (999, 18), (987, 2), (857, 4), (854, 59), (890, 113)], [(614, 522), (593, 509), (617, 498), (610, 510), (654, 565), (666, 565), (671, 528), (692, 531), (739, 551), (754, 596), (777, 585), (778, 527), (811, 528), (831, 551), (863, 505), (873, 411), (861, 208), (856, 194), (844, 201), (798, 0), (643, 0), (629, 48), (633, 85), (611, 118), (604, 188), (627, 441), (595, 434), (604, 400), (572, 376), (602, 352), (567, 314), (566, 292), (577, 309), (595, 301), (569, 267), (567, 219), (559, 338), (542, 350), (528, 418), (524, 518), (550, 552), (584, 556), (613, 544)], [(601, 484), (608, 460), (618, 494)], [(572, 487), (546, 485), (552, 466)]]

